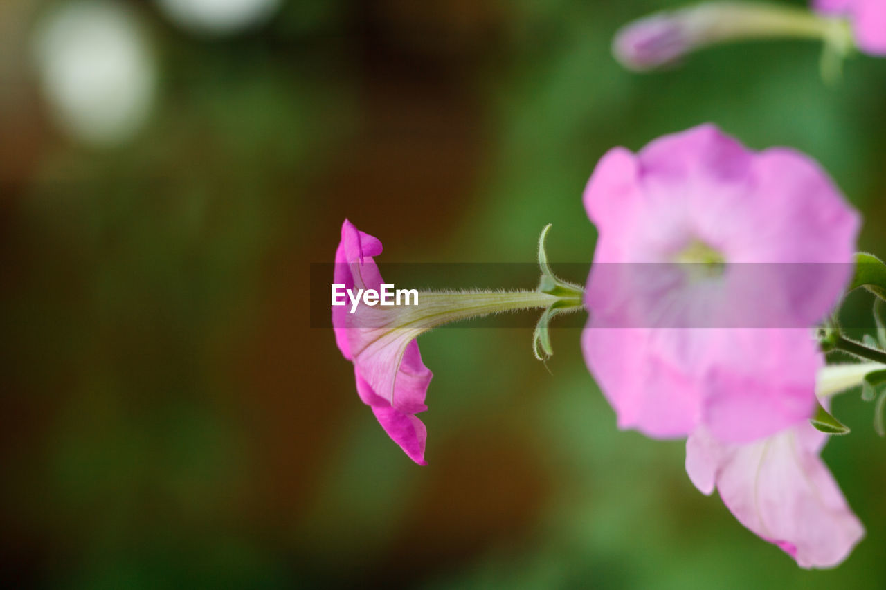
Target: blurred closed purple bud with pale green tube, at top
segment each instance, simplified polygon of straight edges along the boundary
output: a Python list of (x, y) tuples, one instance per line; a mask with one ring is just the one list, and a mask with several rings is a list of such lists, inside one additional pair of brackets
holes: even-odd
[[(839, 2), (831, 0), (829, 4), (835, 1)], [(851, 29), (843, 19), (795, 6), (709, 2), (634, 20), (618, 31), (612, 51), (622, 66), (643, 71), (670, 65), (688, 53), (719, 43), (777, 38), (824, 41), (830, 52), (840, 57), (853, 45)], [(829, 62), (822, 65), (829, 66)]]

